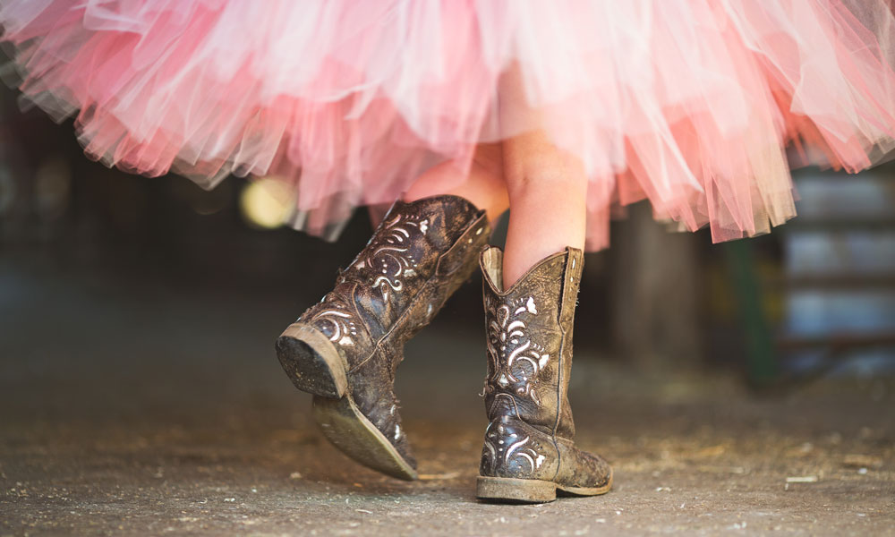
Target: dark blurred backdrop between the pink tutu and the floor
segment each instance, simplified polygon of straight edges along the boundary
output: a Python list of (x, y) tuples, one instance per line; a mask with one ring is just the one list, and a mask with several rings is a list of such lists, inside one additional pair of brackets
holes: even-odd
[[(324, 243), (282, 226), (285, 198), (257, 184), (230, 178), (206, 192), (174, 175), (107, 169), (83, 157), (70, 124), (21, 113), (10, 90), (0, 98), (4, 315), (47, 280), (114, 280), (177, 296), (264, 297), (284, 311), (273, 336), (328, 291), (371, 234), (366, 209), (337, 243)], [(800, 170), (800, 216), (735, 243), (666, 233), (648, 206), (631, 208), (613, 247), (587, 256), (575, 345), (646, 374), (723, 368), (754, 386), (891, 374), (892, 175), (893, 166), (857, 176)], [(469, 312), (481, 311), (480, 300), (478, 281), (465, 286), (440, 322), (474, 332)]]

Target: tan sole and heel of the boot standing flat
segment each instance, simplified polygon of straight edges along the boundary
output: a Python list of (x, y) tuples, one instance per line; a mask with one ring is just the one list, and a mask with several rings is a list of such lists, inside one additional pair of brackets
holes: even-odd
[(556, 500), (557, 493), (564, 496), (600, 496), (611, 488), (612, 473), (609, 473), (609, 481), (602, 487), (564, 487), (537, 479), (480, 475), (475, 482), (475, 497), (512, 503), (547, 503)]

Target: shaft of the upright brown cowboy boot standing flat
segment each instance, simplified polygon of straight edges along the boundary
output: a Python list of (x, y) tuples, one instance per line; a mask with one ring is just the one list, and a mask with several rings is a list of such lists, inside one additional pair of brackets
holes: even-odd
[(490, 421), (511, 408), (543, 433), (559, 439), (575, 436), (567, 391), (583, 261), (582, 251), (567, 248), (541, 260), (504, 290), (503, 252), (482, 251), (488, 348), (484, 395)]

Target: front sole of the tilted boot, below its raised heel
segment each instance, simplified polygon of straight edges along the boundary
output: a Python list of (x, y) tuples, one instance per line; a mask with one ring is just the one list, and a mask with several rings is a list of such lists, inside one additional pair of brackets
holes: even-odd
[(340, 399), (315, 396), (313, 412), (323, 435), (358, 463), (405, 481), (419, 477), (385, 435), (361, 413), (351, 394)]

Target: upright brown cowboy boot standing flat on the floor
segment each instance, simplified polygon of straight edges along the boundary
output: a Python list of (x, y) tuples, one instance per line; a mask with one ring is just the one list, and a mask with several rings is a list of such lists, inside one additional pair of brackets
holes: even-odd
[(584, 256), (567, 248), (503, 289), (503, 251), (482, 251), (488, 333), (488, 428), (476, 483), (480, 499), (547, 502), (557, 490), (609, 491), (612, 470), (574, 446), (567, 389), (572, 324)]

